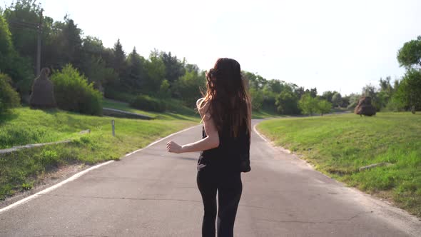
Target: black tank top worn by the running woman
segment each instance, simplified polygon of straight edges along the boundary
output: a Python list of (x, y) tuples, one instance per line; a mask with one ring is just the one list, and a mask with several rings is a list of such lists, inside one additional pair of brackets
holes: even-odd
[[(219, 146), (201, 151), (198, 159), (198, 171), (212, 170), (223, 173), (242, 171), (242, 159), (250, 152), (250, 136), (245, 121), (238, 129), (237, 137), (230, 131), (230, 123), (223, 121), (222, 131), (218, 132)], [(206, 138), (205, 128), (202, 126), (202, 137)]]

